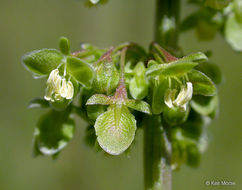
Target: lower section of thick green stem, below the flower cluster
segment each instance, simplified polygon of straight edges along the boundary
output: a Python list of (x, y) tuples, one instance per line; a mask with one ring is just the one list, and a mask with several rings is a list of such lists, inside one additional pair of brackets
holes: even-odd
[(170, 151), (161, 117), (147, 116), (144, 127), (145, 190), (171, 190)]

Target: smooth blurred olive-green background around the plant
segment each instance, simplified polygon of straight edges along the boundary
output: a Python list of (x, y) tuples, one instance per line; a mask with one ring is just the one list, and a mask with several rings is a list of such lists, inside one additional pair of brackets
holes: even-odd
[[(72, 50), (80, 42), (109, 47), (125, 41), (148, 47), (153, 38), (154, 0), (110, 0), (88, 9), (78, 0), (0, 0), (0, 190), (142, 190), (142, 132), (131, 157), (105, 157), (84, 144), (85, 124), (77, 119), (74, 139), (59, 159), (33, 159), (31, 141), (43, 110), (27, 109), (43, 96), (45, 82), (34, 80), (21, 56), (40, 48), (57, 48), (67, 36)], [(194, 9), (183, 5), (184, 17)], [(242, 35), (242, 34), (241, 34)], [(185, 53), (210, 49), (224, 74), (219, 87), (220, 116), (209, 127), (210, 146), (197, 169), (174, 172), (175, 190), (242, 189), (241, 61), (217, 36), (199, 42), (194, 32), (181, 35)], [(236, 186), (206, 187), (205, 180), (235, 181)]]

